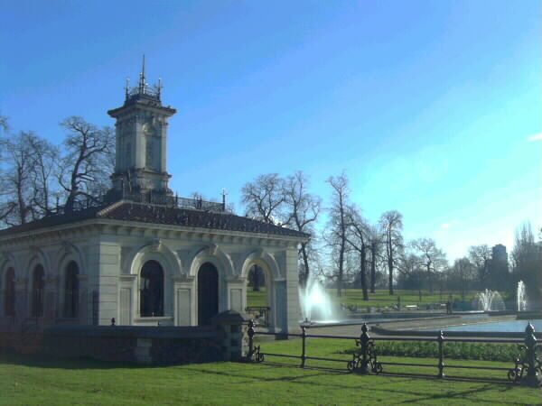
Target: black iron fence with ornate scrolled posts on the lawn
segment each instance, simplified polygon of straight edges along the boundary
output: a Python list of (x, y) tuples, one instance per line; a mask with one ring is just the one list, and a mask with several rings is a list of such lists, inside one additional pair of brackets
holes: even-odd
[[(317, 334), (307, 334), (307, 329), (310, 326), (301, 326), (301, 334), (285, 334), (285, 333), (269, 333), (257, 332), (254, 320), (248, 323), (248, 357), (249, 362), (261, 363), (266, 359), (266, 356), (281, 356), (286, 358), (297, 358), (300, 360), (299, 366), (304, 368), (307, 366), (308, 360), (331, 361), (345, 363), (348, 371), (358, 374), (381, 374), (385, 372), (385, 367), (388, 365), (415, 366), (423, 368), (436, 368), (438, 378), (444, 378), (445, 369), (477, 369), (501, 371), (510, 382), (528, 384), (530, 386), (539, 386), (542, 377), (542, 364), (538, 358), (538, 352), (541, 345), (537, 342), (535, 329), (528, 323), (525, 329), (525, 337), (521, 338), (463, 338), (463, 337), (444, 337), (444, 333), (439, 331), (436, 337), (370, 337), (367, 325), (363, 323), (361, 326), (360, 337), (350, 336), (323, 336)], [(255, 346), (254, 337), (258, 336), (280, 336), (280, 337), (300, 337), (302, 339), (302, 347), (300, 355), (292, 354), (274, 354), (264, 352), (261, 345)], [(353, 339), (358, 348), (353, 354), (352, 359), (346, 361), (344, 359), (327, 358), (319, 356), (307, 355), (307, 338), (331, 338), (331, 339)], [(436, 364), (416, 364), (416, 363), (400, 363), (400, 362), (384, 362), (378, 359), (378, 341), (429, 341), (438, 344), (438, 360)], [(461, 365), (461, 364), (444, 364), (444, 344), (445, 343), (499, 343), (499, 344), (517, 344), (518, 358), (510, 360), (513, 366), (498, 367), (487, 365)], [(503, 377), (504, 379), (504, 377)]]

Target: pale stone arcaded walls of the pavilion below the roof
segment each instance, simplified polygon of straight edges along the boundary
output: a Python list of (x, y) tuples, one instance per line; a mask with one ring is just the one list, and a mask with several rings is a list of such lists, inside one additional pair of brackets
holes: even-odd
[[(196, 326), (198, 272), (219, 273), (219, 312), (244, 311), (248, 270), (266, 272), (270, 328), (297, 329), (300, 320), (297, 244), (302, 238), (226, 230), (89, 219), (0, 236), (0, 320), (4, 331), (57, 323)], [(150, 260), (164, 269), (164, 316), (141, 317), (141, 270)], [(64, 318), (65, 272), (79, 268), (79, 318)], [(31, 317), (32, 272), (44, 273), (43, 314)], [(5, 316), (5, 275), (15, 271), (15, 315)], [(97, 297), (98, 295), (98, 297)]]

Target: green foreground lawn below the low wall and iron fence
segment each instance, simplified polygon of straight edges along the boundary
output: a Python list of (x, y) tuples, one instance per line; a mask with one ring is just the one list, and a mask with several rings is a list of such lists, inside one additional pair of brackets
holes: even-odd
[[(339, 354), (351, 340), (308, 340), (308, 355), (350, 359)], [(301, 341), (268, 341), (262, 350), (299, 354)], [(267, 357), (271, 361), (271, 357)], [(164, 367), (108, 364), (83, 359), (51, 359), (0, 354), (0, 404), (540, 404), (540, 389), (509, 383), (437, 380), (412, 376), (345, 374), (342, 363), (274, 358), (278, 364), (211, 363)], [(387, 360), (435, 364), (434, 359), (387, 357)], [(267, 361), (267, 360), (266, 360)], [(454, 361), (454, 364), (469, 363)], [(509, 363), (477, 361), (491, 366)], [(396, 367), (397, 369), (398, 367)], [(391, 371), (392, 367), (385, 367)], [(435, 374), (435, 368), (423, 371)], [(420, 368), (401, 373), (419, 374)], [(464, 371), (459, 370), (462, 374)], [(501, 375), (473, 371), (472, 376)], [(500, 376), (501, 377), (501, 376)]]

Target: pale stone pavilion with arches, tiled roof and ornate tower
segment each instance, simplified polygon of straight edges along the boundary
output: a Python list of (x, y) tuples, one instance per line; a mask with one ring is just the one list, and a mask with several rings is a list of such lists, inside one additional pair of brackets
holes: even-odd
[(207, 325), (247, 306), (247, 276), (265, 272), (269, 327), (298, 328), (297, 245), (309, 235), (239, 217), (225, 202), (168, 189), (161, 88), (126, 87), (112, 189), (96, 207), (59, 210), (0, 230), (0, 328), (53, 324)]

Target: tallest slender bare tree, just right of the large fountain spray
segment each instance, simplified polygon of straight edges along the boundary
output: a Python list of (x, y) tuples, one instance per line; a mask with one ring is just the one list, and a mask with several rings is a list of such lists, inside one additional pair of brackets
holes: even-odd
[(344, 263), (347, 251), (347, 208), (350, 189), (344, 172), (340, 176), (330, 177), (327, 182), (332, 187), (332, 207), (329, 209), (328, 232), (324, 238), (327, 244), (332, 247), (333, 253), (337, 255), (337, 296), (342, 296)]

